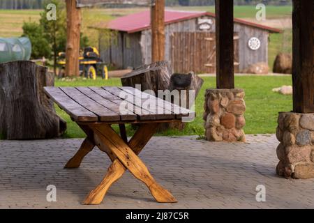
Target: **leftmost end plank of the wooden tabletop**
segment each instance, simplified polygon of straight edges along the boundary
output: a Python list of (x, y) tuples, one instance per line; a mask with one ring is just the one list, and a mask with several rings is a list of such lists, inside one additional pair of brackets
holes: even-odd
[(61, 89), (54, 86), (45, 86), (45, 93), (57, 104), (61, 109), (68, 113), (75, 121), (98, 121), (98, 116), (93, 112), (82, 107), (82, 105), (73, 101)]

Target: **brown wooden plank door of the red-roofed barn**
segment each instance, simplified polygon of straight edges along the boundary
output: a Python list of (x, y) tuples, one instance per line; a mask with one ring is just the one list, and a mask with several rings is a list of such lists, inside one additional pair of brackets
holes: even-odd
[[(174, 32), (171, 36), (174, 72), (216, 72), (215, 33)], [(234, 71), (239, 71), (239, 35), (234, 33)]]

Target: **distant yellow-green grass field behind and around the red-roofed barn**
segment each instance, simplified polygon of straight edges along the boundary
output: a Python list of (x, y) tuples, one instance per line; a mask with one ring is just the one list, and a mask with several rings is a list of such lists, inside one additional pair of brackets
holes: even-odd
[[(207, 10), (214, 13), (213, 6), (204, 7), (174, 7), (176, 10)], [(114, 17), (136, 13), (146, 8), (84, 8), (82, 10), (82, 33), (89, 37), (89, 44), (98, 47), (98, 31), (88, 29), (91, 24), (109, 22)], [(0, 10), (0, 37), (20, 36), (22, 24), (27, 21), (38, 21), (41, 10)], [(267, 19), (290, 17), (290, 6), (267, 6)], [(235, 6), (234, 17), (254, 18), (256, 9), (254, 6)], [(272, 69), (274, 59), (278, 52), (291, 52), (292, 31), (271, 34), (269, 41), (269, 68)]]

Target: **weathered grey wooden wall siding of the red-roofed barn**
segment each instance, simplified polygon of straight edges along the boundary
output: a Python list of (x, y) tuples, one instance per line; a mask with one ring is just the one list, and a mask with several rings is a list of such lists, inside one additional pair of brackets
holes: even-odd
[[(211, 29), (205, 32), (215, 32), (215, 18), (202, 16), (201, 19), (210, 18), (214, 24)], [(165, 60), (172, 63), (172, 45), (171, 40), (173, 33), (178, 32), (204, 32), (198, 29), (197, 20), (193, 18), (181, 22), (174, 22), (165, 26)], [(268, 63), (268, 37), (269, 32), (257, 29), (253, 26), (234, 23), (234, 32), (239, 33), (239, 70), (244, 70), (252, 63), (265, 62)], [(126, 38), (130, 38), (130, 47), (126, 47)], [(260, 49), (252, 50), (248, 47), (248, 40), (257, 37), (261, 41)], [(141, 64), (151, 63), (151, 30), (147, 29), (138, 33), (119, 32), (115, 42), (112, 40), (111, 49), (104, 49), (100, 37), (100, 54), (106, 63), (112, 63), (117, 68), (136, 68)], [(114, 44), (116, 43), (116, 44)], [(210, 54), (211, 52), (209, 52)], [(204, 69), (205, 71), (206, 69)]]

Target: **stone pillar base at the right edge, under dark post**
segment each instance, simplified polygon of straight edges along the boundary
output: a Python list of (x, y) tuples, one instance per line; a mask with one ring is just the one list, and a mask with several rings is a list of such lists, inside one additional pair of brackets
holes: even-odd
[(314, 114), (280, 112), (276, 137), (281, 142), (276, 173), (285, 178), (314, 178)]

